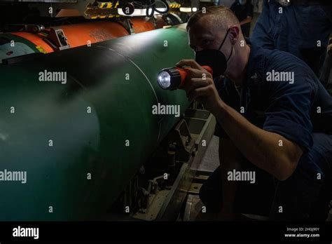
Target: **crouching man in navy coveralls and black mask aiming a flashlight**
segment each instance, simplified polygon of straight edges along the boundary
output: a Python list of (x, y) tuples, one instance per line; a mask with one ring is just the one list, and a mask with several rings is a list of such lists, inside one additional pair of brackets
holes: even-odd
[(193, 14), (187, 30), (195, 60), (177, 64), (192, 67), (183, 89), (216, 116), (220, 137), (221, 166), (200, 189), (207, 210), (220, 219), (326, 219), (332, 98), (317, 76), (298, 57), (246, 43), (228, 8)]

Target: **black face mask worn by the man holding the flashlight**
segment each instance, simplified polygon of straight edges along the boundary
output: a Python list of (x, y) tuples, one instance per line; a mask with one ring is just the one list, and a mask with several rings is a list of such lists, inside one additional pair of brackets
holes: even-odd
[(195, 61), (198, 62), (198, 65), (209, 66), (213, 71), (214, 78), (216, 78), (217, 76), (221, 76), (223, 73), (225, 73), (227, 69), (227, 62), (233, 53), (233, 46), (232, 46), (230, 55), (226, 59), (225, 55), (223, 55), (223, 53), (221, 53), (220, 51), (220, 48), (223, 46), (223, 43), (225, 42), (229, 31), (230, 29), (227, 30), (226, 35), (223, 38), (223, 42), (221, 43), (219, 49), (205, 49), (205, 50), (199, 50), (195, 53)]

